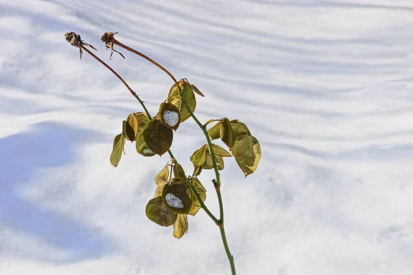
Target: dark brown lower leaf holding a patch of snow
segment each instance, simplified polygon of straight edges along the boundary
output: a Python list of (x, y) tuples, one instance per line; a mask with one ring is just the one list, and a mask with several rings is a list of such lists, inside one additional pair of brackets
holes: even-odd
[(162, 190), (162, 200), (165, 206), (176, 214), (188, 214), (191, 210), (191, 191), (187, 186), (187, 181), (175, 177), (171, 179)]

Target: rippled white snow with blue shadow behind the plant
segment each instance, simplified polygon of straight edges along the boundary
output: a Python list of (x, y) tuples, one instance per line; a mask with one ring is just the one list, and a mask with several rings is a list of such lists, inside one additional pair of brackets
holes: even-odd
[[(167, 154), (128, 142), (112, 168), (142, 109), (70, 31), (151, 113), (173, 83), (123, 49), (110, 61), (103, 32), (195, 84), (202, 122), (260, 140), (253, 175), (233, 158), (221, 173), (238, 274), (412, 274), (412, 0), (0, 0), (1, 275), (230, 274), (203, 211), (180, 240), (145, 216)], [(202, 144), (192, 120), (174, 136), (188, 173)], [(218, 213), (213, 173), (200, 179)]]

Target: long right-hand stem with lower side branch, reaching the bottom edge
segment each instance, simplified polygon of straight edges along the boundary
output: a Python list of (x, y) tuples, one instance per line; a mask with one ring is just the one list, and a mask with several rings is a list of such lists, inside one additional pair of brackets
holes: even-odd
[(221, 197), (221, 192), (220, 192), (220, 186), (221, 186), (221, 179), (220, 179), (220, 172), (218, 170), (218, 165), (217, 165), (217, 160), (215, 157), (215, 153), (213, 151), (213, 147), (212, 147), (212, 142), (211, 142), (211, 138), (209, 137), (207, 128), (202, 125), (202, 123), (198, 120), (198, 118), (193, 114), (193, 112), (191, 111), (191, 109), (188, 107), (187, 102), (185, 102), (184, 98), (182, 97), (182, 91), (178, 85), (178, 81), (176, 80), (176, 78), (167, 70), (165, 69), (165, 67), (162, 67), (162, 65), (160, 65), (159, 63), (157, 63), (156, 61), (153, 61), (152, 58), (149, 58), (148, 56), (146, 56), (145, 54), (142, 54), (141, 52), (138, 52), (134, 49), (132, 49), (131, 47), (128, 47), (127, 45), (124, 45), (123, 43), (120, 43), (119, 41), (117, 41), (116, 39), (112, 39), (112, 42), (115, 45), (118, 45), (119, 47), (123, 47), (125, 50), (128, 50), (129, 52), (133, 52), (134, 54), (137, 54), (138, 56), (145, 58), (147, 61), (149, 61), (150, 63), (152, 63), (153, 65), (156, 65), (156, 67), (160, 68), (163, 72), (165, 72), (170, 78), (172, 78), (173, 82), (176, 84), (176, 87), (178, 88), (178, 92), (181, 96), (181, 100), (182, 102), (184, 102), (185, 107), (187, 108), (187, 111), (189, 112), (189, 114), (191, 115), (191, 117), (193, 118), (193, 120), (196, 122), (196, 124), (198, 124), (198, 126), (200, 127), (200, 129), (202, 130), (202, 132), (205, 135), (205, 138), (207, 139), (208, 142), (208, 146), (209, 146), (209, 153), (211, 153), (211, 159), (212, 159), (212, 164), (213, 164), (213, 168), (215, 171), (215, 190), (217, 192), (217, 197), (218, 197), (218, 202), (220, 204), (220, 219), (216, 219), (215, 216), (213, 216), (213, 214), (208, 210), (208, 208), (204, 206), (204, 202), (202, 201), (202, 199), (200, 198), (198, 192), (196, 192), (195, 188), (193, 188), (193, 186), (191, 186), (191, 184), (189, 183), (189, 180), (187, 179), (187, 184), (189, 185), (189, 188), (191, 188), (191, 191), (195, 194), (195, 197), (198, 199), (198, 201), (200, 202), (202, 209), (205, 210), (205, 212), (207, 212), (207, 214), (209, 215), (209, 217), (211, 217), (211, 219), (215, 222), (215, 224), (218, 225), (218, 227), (220, 228), (220, 232), (221, 232), (221, 238), (222, 238), (222, 243), (224, 243), (224, 249), (226, 252), (226, 256), (228, 256), (228, 260), (229, 263), (231, 265), (231, 274), (232, 275), (236, 275), (235, 272), (235, 265), (234, 265), (234, 259), (233, 256), (231, 255), (231, 252), (229, 250), (229, 246), (228, 246), (228, 242), (226, 241), (226, 235), (225, 235), (225, 230), (224, 230), (224, 206), (222, 203), (222, 197)]

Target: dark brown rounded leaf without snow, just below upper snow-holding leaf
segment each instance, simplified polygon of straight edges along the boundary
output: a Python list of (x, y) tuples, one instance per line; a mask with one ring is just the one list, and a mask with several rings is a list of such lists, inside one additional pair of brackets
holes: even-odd
[(163, 155), (171, 148), (173, 131), (158, 118), (153, 118), (142, 133), (147, 146), (156, 154)]

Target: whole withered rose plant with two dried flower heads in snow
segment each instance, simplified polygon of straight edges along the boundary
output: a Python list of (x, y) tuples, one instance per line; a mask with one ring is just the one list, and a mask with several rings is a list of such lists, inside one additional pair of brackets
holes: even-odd
[[(169, 94), (165, 101), (160, 104), (158, 113), (151, 117), (144, 102), (127, 85), (125, 80), (112, 67), (109, 67), (109, 65), (87, 49), (87, 47), (91, 47), (96, 50), (92, 45), (83, 42), (81, 36), (74, 32), (67, 32), (65, 34), (67, 42), (74, 47), (78, 47), (81, 55), (84, 50), (118, 77), (145, 111), (131, 113), (126, 120), (123, 120), (122, 131), (114, 138), (112, 154), (110, 155), (111, 164), (115, 167), (118, 166), (122, 153), (125, 153), (124, 146), (126, 140), (135, 142), (136, 151), (144, 157), (169, 153), (169, 162), (155, 177), (157, 186), (153, 199), (149, 200), (146, 206), (147, 217), (161, 226), (173, 225), (173, 236), (180, 239), (188, 232), (187, 215), (195, 216), (198, 210), (202, 208), (213, 222), (218, 225), (222, 243), (231, 266), (231, 273), (235, 274), (235, 264), (233, 256), (229, 251), (224, 230), (224, 206), (220, 190), (220, 170), (224, 169), (224, 157), (233, 156), (245, 177), (253, 173), (257, 169), (258, 162), (260, 162), (260, 143), (251, 135), (246, 124), (240, 122), (240, 120), (229, 120), (228, 118), (211, 119), (202, 124), (194, 115), (196, 107), (195, 94), (202, 97), (204, 94), (195, 85), (191, 85), (186, 78), (179, 81), (176, 80), (165, 67), (162, 67), (156, 61), (120, 43), (114, 38), (114, 34), (116, 32), (106, 32), (101, 37), (101, 41), (105, 43), (107, 49), (111, 50), (109, 58), (112, 58), (113, 52), (117, 52), (125, 58), (123, 54), (114, 50), (114, 45), (123, 47), (125, 50), (145, 58), (160, 68), (173, 80), (173, 85), (169, 89)], [(177, 131), (180, 124), (188, 118), (192, 118), (198, 124), (207, 140), (207, 144), (193, 152), (190, 157), (193, 164), (192, 175), (187, 175), (184, 172), (184, 169), (169, 149), (173, 140), (173, 131)], [(207, 126), (213, 122), (217, 123), (207, 130)], [(211, 142), (211, 140), (218, 139), (221, 139), (229, 147), (232, 155), (226, 149)], [(213, 169), (215, 171), (215, 179), (212, 182), (220, 206), (219, 219), (209, 211), (204, 203), (207, 193), (198, 179), (198, 176), (204, 169)]]

